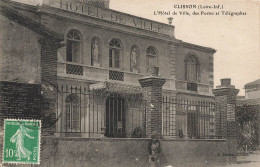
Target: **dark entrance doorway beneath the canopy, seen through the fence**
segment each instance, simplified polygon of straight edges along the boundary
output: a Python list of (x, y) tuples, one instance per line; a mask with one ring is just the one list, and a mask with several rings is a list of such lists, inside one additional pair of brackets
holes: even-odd
[(106, 132), (107, 137), (126, 137), (125, 133), (125, 100), (121, 97), (106, 99)]

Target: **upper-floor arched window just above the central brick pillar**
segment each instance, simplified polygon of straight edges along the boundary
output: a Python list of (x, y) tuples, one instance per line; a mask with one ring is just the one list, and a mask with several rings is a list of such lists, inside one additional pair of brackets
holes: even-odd
[(157, 67), (157, 52), (156, 49), (152, 46), (149, 46), (146, 49), (146, 69), (147, 72), (149, 68)]

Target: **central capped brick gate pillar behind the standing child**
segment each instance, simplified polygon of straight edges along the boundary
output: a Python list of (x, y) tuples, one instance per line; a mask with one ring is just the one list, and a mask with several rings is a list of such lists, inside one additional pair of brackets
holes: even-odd
[(143, 98), (146, 103), (145, 128), (146, 136), (151, 137), (153, 132), (162, 134), (162, 86), (164, 78), (148, 76), (139, 80), (143, 88)]

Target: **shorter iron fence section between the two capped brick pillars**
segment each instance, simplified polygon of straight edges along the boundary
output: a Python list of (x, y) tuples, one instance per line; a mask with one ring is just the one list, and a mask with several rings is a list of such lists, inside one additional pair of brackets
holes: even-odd
[[(223, 138), (217, 132), (221, 123), (216, 119), (219, 105), (211, 101), (194, 101), (163, 97), (162, 135), (172, 138), (210, 139)], [(220, 115), (221, 116), (221, 115)]]

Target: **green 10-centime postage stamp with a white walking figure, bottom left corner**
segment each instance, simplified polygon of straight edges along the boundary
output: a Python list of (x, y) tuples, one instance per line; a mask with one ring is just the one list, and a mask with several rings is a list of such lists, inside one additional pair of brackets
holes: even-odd
[(40, 164), (40, 120), (5, 119), (3, 163)]

